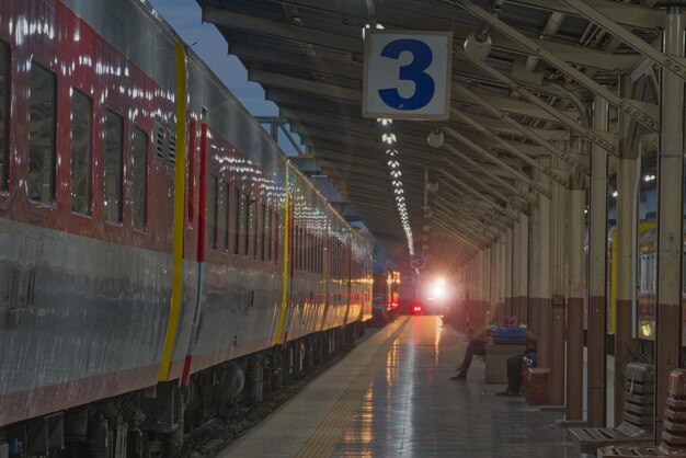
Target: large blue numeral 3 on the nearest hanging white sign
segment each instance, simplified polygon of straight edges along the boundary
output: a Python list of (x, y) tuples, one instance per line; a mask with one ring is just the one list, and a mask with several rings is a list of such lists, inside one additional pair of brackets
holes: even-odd
[(381, 50), (381, 56), (398, 59), (403, 51), (412, 53), (412, 61), (400, 67), (398, 77), (400, 80), (414, 82), (414, 93), (405, 99), (400, 95), (398, 89), (379, 89), (379, 96), (391, 108), (419, 110), (431, 102), (436, 90), (434, 79), (424, 70), (428, 68), (433, 59), (431, 48), (419, 39), (396, 39), (387, 44)]

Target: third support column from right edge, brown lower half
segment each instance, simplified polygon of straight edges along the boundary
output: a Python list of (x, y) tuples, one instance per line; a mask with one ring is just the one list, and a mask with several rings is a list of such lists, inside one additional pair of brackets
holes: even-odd
[[(595, 95), (593, 127), (607, 130), (607, 101)], [(606, 265), (607, 265), (607, 151), (591, 149), (591, 224), (588, 240), (588, 363), (586, 412), (588, 426), (606, 422)]]

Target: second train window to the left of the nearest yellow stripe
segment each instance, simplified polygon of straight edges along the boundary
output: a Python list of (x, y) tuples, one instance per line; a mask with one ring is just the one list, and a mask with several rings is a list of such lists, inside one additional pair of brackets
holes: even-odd
[(105, 221), (122, 222), (124, 121), (107, 110), (105, 116)]

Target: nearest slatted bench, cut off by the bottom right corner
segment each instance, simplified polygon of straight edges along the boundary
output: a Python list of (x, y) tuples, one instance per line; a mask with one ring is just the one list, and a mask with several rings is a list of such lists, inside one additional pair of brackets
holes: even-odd
[[(662, 444), (608, 446), (598, 448), (598, 457), (686, 457), (686, 370), (674, 369), (670, 374), (670, 392), (667, 407), (664, 410), (665, 421), (662, 432)], [(651, 437), (652, 438), (652, 437)], [(652, 440), (651, 440), (652, 442)]]

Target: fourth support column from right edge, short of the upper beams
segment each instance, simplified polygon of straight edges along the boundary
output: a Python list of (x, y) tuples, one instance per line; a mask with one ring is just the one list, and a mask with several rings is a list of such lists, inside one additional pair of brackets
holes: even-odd
[(569, 283), (567, 298), (567, 398), (564, 420), (583, 420), (584, 297), (586, 263), (584, 254), (586, 178), (570, 175)]

